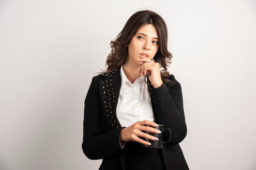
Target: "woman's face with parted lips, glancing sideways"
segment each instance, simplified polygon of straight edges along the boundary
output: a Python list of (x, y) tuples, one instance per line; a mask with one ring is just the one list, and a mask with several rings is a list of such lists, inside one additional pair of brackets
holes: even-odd
[(157, 29), (152, 24), (141, 27), (128, 44), (126, 64), (142, 65), (141, 58), (153, 59), (158, 50)]

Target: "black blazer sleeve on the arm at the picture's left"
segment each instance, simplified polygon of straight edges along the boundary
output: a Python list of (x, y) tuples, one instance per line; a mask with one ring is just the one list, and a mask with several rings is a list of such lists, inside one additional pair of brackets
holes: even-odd
[(93, 77), (85, 98), (83, 120), (82, 148), (89, 159), (112, 157), (122, 151), (119, 145), (121, 128), (105, 133), (102, 113), (99, 86), (96, 77)]

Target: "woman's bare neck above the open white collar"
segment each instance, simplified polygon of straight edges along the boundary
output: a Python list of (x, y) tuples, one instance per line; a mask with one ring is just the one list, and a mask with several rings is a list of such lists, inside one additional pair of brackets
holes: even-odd
[(124, 74), (126, 75), (126, 77), (128, 78), (128, 80), (131, 83), (134, 83), (135, 80), (140, 77), (138, 73), (140, 66), (139, 65), (131, 65), (128, 63), (124, 63), (123, 64), (123, 70), (124, 70)]

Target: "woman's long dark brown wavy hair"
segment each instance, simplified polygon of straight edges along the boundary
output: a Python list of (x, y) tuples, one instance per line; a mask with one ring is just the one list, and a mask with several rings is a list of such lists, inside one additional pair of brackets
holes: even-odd
[[(107, 69), (103, 71), (104, 73), (112, 72), (120, 65), (124, 64), (128, 56), (128, 44), (132, 37), (137, 33), (137, 31), (147, 25), (152, 24), (157, 29), (159, 38), (159, 48), (154, 56), (154, 60), (159, 63), (161, 67), (161, 78), (162, 81), (166, 83), (171, 83), (167, 79), (169, 72), (167, 67), (171, 64), (171, 58), (173, 55), (168, 51), (168, 33), (166, 23), (163, 18), (150, 10), (143, 10), (134, 13), (126, 22), (122, 31), (117, 35), (116, 39), (110, 42), (111, 51), (108, 54), (106, 60)], [(148, 77), (147, 80), (149, 81)]]

